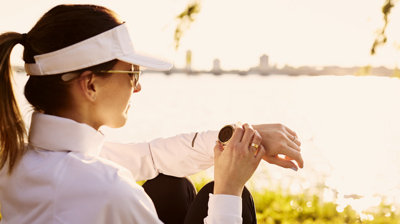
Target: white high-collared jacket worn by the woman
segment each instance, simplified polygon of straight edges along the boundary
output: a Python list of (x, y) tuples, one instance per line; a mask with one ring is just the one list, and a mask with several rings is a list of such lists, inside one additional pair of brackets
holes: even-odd
[[(26, 154), (11, 176), (0, 171), (1, 223), (162, 223), (136, 181), (211, 167), (216, 135), (111, 143), (86, 124), (34, 113)], [(204, 222), (242, 223), (241, 214), (240, 197), (210, 194)]]

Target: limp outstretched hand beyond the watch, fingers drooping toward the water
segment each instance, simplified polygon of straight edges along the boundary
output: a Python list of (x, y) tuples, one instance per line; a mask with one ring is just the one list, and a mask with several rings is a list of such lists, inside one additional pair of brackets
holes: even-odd
[[(252, 125), (261, 135), (261, 144), (265, 148), (263, 160), (283, 168), (290, 168), (297, 171), (298, 167), (292, 162), (296, 161), (300, 168), (303, 168), (304, 161), (300, 153), (301, 142), (296, 132), (282, 124), (260, 124)], [(285, 155), (281, 158), (278, 155)]]

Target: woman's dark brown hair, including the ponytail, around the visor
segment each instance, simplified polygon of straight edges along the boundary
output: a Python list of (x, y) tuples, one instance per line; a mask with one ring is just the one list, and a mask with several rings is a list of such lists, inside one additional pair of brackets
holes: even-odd
[[(12, 88), (10, 54), (17, 43), (24, 45), (25, 63), (33, 56), (53, 52), (122, 24), (111, 10), (95, 5), (59, 5), (40, 18), (27, 33), (8, 32), (0, 35), (0, 169), (8, 163), (8, 174), (25, 153), (26, 128)], [(116, 60), (85, 70), (109, 70)], [(78, 71), (83, 72), (84, 70)], [(25, 97), (36, 111), (52, 114), (70, 105), (70, 82), (62, 74), (30, 76)]]

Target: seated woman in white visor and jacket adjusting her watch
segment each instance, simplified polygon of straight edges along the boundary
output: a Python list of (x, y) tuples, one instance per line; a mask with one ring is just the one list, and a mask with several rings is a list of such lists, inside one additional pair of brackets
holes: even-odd
[[(27, 144), (11, 84), (18, 43), (35, 110)], [(125, 23), (107, 8), (56, 6), (27, 34), (2, 34), (0, 52), (2, 223), (254, 223), (244, 185), (261, 159), (303, 167), (300, 142), (283, 125), (237, 125), (225, 149), (217, 131), (104, 142), (98, 128), (126, 123), (140, 68), (172, 66), (135, 51)], [(214, 182), (196, 195), (185, 176), (213, 165)], [(140, 180), (150, 181), (142, 188)]]

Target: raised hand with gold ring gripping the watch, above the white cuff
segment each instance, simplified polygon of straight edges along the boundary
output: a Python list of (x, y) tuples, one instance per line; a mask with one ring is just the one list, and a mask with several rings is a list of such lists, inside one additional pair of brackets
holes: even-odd
[[(214, 194), (241, 196), (246, 182), (263, 159), (265, 148), (261, 136), (249, 124), (237, 126), (232, 139), (223, 149), (214, 147)], [(251, 143), (257, 144), (258, 150)]]

